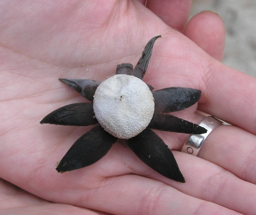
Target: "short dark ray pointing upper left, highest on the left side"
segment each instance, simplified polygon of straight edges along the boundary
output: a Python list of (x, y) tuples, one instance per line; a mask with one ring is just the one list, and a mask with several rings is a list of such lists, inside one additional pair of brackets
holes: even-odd
[(59, 79), (59, 81), (69, 85), (89, 101), (93, 101), (95, 90), (101, 83), (100, 81), (89, 79)]

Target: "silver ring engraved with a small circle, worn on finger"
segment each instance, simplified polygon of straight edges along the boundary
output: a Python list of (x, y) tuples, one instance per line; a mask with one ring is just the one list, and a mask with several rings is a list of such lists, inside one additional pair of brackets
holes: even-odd
[(187, 138), (187, 141), (185, 142), (181, 151), (198, 156), (198, 153), (207, 136), (221, 124), (222, 121), (219, 119), (216, 119), (213, 116), (207, 116), (199, 123), (200, 126), (207, 129), (207, 132), (205, 134), (191, 134), (189, 138)]

